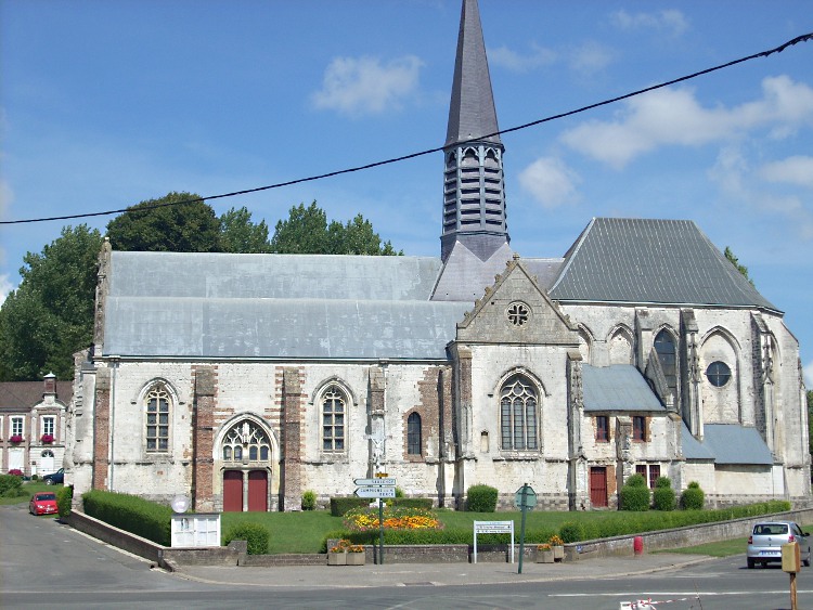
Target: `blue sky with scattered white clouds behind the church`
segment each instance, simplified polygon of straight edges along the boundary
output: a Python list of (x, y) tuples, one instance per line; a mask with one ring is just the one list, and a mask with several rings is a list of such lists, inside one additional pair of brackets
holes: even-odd
[[(501, 129), (775, 49), (810, 0), (480, 0)], [(63, 226), (442, 146), (460, 0), (0, 0), (0, 300)], [(508, 233), (560, 257), (594, 217), (694, 220), (748, 268), (813, 388), (813, 40), (502, 137)], [(271, 231), (315, 200), (439, 256), (442, 155), (210, 202)]]

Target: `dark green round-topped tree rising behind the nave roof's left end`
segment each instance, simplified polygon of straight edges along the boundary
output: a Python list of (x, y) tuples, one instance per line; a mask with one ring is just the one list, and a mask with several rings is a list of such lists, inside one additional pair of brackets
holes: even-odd
[(107, 223), (107, 236), (114, 250), (217, 252), (220, 221), (198, 195), (172, 192), (127, 208)]

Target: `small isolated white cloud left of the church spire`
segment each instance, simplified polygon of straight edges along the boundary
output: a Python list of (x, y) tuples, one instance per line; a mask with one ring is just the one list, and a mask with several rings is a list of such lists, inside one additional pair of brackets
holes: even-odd
[(376, 57), (336, 57), (325, 69), (322, 89), (311, 95), (317, 108), (349, 116), (398, 108), (417, 89), (423, 62), (406, 55), (382, 64)]

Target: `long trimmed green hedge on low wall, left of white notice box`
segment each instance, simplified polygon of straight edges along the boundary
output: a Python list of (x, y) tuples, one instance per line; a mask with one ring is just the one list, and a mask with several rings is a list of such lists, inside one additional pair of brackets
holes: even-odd
[(134, 495), (91, 490), (82, 494), (85, 512), (115, 528), (169, 546), (172, 509)]

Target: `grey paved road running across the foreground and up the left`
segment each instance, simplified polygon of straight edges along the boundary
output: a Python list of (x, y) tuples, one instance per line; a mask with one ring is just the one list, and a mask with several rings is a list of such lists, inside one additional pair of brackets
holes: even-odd
[[(789, 608), (778, 568), (747, 570), (745, 557), (674, 554), (566, 564), (440, 563), (362, 567), (151, 569), (25, 505), (0, 506), (3, 608)], [(810, 572), (810, 573), (809, 573)], [(813, 570), (798, 577), (799, 608), (813, 608)], [(698, 600), (699, 595), (699, 600)], [(666, 602), (669, 603), (666, 603)]]

